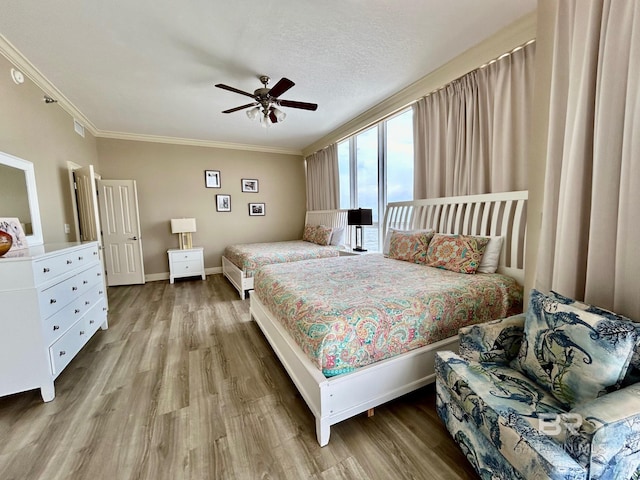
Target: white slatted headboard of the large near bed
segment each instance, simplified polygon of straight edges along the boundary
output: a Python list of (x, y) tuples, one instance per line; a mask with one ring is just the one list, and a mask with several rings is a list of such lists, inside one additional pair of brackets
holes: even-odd
[(498, 272), (524, 284), (527, 191), (432, 198), (387, 205), (389, 228), (432, 228), (439, 233), (504, 237)]

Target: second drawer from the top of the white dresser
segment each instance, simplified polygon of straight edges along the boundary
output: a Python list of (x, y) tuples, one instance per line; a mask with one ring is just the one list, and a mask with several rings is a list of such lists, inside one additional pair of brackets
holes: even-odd
[(84, 272), (46, 288), (38, 295), (42, 318), (48, 318), (58, 312), (96, 284), (103, 285), (102, 266), (99, 263)]

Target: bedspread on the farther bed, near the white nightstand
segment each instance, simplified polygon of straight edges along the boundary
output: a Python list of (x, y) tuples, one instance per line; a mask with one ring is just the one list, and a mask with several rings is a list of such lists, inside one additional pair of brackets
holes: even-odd
[(244, 243), (227, 247), (224, 256), (242, 270), (246, 277), (252, 277), (254, 271), (262, 265), (337, 257), (338, 247), (321, 246), (302, 240)]

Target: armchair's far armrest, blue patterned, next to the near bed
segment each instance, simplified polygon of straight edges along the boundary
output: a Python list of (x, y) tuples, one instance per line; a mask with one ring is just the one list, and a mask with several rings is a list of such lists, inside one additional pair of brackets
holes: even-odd
[(509, 363), (522, 343), (525, 314), (463, 327), (460, 356), (468, 361)]

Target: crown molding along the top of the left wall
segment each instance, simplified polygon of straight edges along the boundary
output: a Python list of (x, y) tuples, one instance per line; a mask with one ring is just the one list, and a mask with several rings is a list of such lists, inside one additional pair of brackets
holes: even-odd
[(65, 112), (80, 122), (92, 135), (96, 135), (95, 125), (2, 34), (0, 34), (0, 54), (13, 63), (46, 95), (55, 99)]

